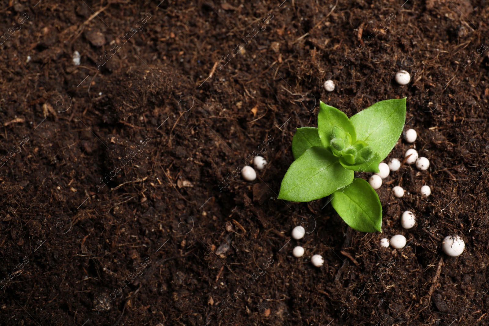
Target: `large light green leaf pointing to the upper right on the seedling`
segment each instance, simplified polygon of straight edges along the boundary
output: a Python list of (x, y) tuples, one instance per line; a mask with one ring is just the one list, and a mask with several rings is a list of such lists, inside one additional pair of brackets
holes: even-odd
[(366, 142), (382, 161), (392, 151), (404, 129), (406, 98), (377, 102), (356, 113), (350, 121), (357, 139)]

